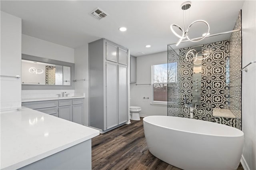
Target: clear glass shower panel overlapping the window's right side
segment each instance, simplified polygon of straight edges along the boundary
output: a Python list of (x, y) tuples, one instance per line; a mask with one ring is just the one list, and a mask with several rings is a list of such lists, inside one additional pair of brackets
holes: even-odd
[[(181, 64), (182, 63), (182, 64)], [(189, 109), (184, 105), (184, 97), (191, 101), (190, 91), (193, 68), (191, 62), (180, 56), (168, 45), (168, 116), (188, 117)], [(175, 78), (174, 78), (175, 77)], [(184, 88), (180, 88), (183, 86)], [(186, 100), (185, 99), (185, 100)]]

